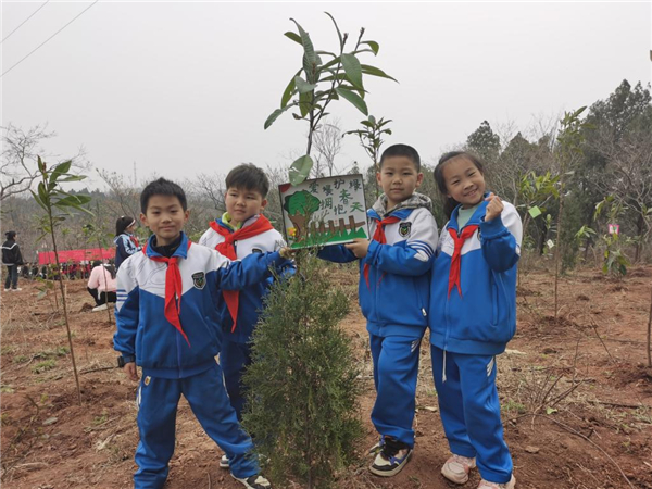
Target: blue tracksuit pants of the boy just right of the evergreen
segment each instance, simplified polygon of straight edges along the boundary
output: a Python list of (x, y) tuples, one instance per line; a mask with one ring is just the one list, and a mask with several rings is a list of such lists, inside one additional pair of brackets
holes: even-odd
[(414, 409), (421, 337), (369, 334), (376, 403), (372, 423), (376, 430), (414, 447)]

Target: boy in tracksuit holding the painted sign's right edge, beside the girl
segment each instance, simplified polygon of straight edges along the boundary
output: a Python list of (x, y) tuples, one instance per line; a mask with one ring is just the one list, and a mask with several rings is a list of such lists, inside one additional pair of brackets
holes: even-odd
[(414, 448), (419, 344), (428, 324), (429, 272), (437, 248), (430, 199), (414, 192), (423, 177), (414, 148), (387, 148), (376, 175), (384, 193), (367, 211), (373, 239), (318, 253), (340, 263), (360, 260), (360, 305), (377, 393), (372, 422), (380, 434), (369, 471), (385, 477), (398, 474)]

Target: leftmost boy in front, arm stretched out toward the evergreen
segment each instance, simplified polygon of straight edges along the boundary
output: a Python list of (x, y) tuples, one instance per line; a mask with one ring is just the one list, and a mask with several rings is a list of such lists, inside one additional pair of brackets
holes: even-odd
[(216, 251), (190, 242), (183, 233), (188, 221), (184, 190), (164, 178), (140, 196), (142, 224), (153, 236), (142, 252), (125, 260), (117, 273), (117, 331), (114, 348), (131, 380), (138, 380), (136, 489), (161, 488), (174, 452), (175, 419), (181, 394), (205, 432), (228, 454), (231, 475), (247, 488), (268, 488), (253, 444), (242, 431), (215, 362), (221, 326), (221, 289), (256, 284), (268, 267), (283, 265), (280, 253), (261, 253), (231, 262)]

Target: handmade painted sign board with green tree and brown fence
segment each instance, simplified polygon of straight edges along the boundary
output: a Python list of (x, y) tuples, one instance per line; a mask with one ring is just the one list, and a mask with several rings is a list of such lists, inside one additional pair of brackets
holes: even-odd
[(278, 186), (290, 248), (324, 247), (369, 238), (362, 175), (337, 175)]

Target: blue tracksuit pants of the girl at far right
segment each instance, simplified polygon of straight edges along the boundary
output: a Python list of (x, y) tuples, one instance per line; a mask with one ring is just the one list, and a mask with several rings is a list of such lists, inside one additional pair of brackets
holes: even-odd
[(451, 452), (475, 456), (485, 480), (509, 482), (513, 466), (500, 421), (496, 356), (444, 352), (432, 346), (430, 353), (441, 423)]

